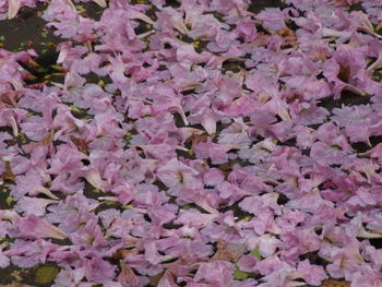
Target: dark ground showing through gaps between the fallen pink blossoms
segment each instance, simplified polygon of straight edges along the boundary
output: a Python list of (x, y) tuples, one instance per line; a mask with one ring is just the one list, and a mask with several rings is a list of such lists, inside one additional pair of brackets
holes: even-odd
[[(168, 1), (171, 4), (171, 1)], [(176, 4), (176, 1), (172, 1)], [(253, 0), (250, 5), (251, 12), (259, 12), (267, 7), (283, 7), (282, 1), (277, 0)], [(95, 3), (81, 4), (81, 11), (84, 15), (98, 19), (102, 10)], [(19, 15), (11, 21), (0, 21), (0, 47), (11, 51), (21, 51), (33, 48), (39, 55), (36, 62), (39, 67), (24, 67), (35, 79), (31, 83), (41, 83), (55, 80), (55, 82), (62, 82), (63, 75), (59, 75), (55, 69), (58, 53), (56, 52), (57, 44), (61, 41), (53, 33), (45, 27), (44, 20), (40, 15), (45, 9), (44, 4), (39, 4), (37, 9), (21, 9)], [(235, 69), (237, 64), (230, 63), (225, 69)], [(381, 75), (378, 75), (382, 77)], [(335, 107), (344, 105), (360, 105), (369, 103), (369, 97), (361, 97), (359, 95), (345, 92), (338, 100), (323, 100), (321, 106), (331, 110)], [(372, 139), (372, 144), (382, 142), (382, 139)], [(362, 152), (367, 146), (361, 144), (355, 145), (359, 152)], [(13, 203), (10, 201), (8, 186), (12, 184), (9, 179), (5, 183), (0, 186), (0, 210), (11, 208)], [(89, 190), (85, 191), (86, 195), (92, 198)], [(93, 194), (93, 196), (97, 196)], [(382, 248), (381, 240), (372, 242), (378, 248)], [(23, 286), (23, 284), (33, 286), (51, 286), (59, 268), (52, 264), (36, 265), (32, 268), (19, 268), (11, 265), (8, 268), (0, 268), (0, 287), (1, 286)], [(12, 284), (12, 285), (9, 285)], [(24, 285), (25, 286), (25, 285)], [(322, 287), (348, 287), (349, 283), (343, 280), (325, 280)]]

